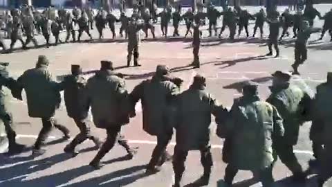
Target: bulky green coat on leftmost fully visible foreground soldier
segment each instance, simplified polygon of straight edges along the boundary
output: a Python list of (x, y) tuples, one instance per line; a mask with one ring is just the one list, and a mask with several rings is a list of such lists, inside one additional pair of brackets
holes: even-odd
[(47, 66), (28, 69), (17, 80), (19, 87), (26, 91), (28, 113), (32, 118), (50, 118), (59, 108), (61, 96), (58, 83)]

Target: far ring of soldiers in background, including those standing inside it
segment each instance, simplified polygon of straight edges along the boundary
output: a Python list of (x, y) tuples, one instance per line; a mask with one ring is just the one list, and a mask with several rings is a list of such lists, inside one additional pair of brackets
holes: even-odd
[[(251, 14), (246, 9), (241, 7), (225, 7), (223, 11), (217, 10), (211, 3), (206, 7), (206, 12), (203, 11), (203, 5), (198, 5), (198, 11), (193, 12), (190, 8), (185, 13), (181, 13), (181, 6), (167, 6), (161, 12), (158, 13), (156, 6), (151, 8), (145, 8), (144, 6), (137, 6), (133, 9), (132, 15), (129, 17), (125, 12), (120, 13), (120, 17), (113, 15), (111, 10), (103, 10), (100, 8), (98, 12), (92, 8), (73, 8), (73, 10), (65, 10), (64, 8), (46, 8), (43, 12), (35, 10), (31, 6), (23, 6), (21, 9), (12, 9), (6, 12), (3, 19), (6, 23), (6, 33), (8, 38), (11, 39), (10, 48), (8, 52), (12, 52), (13, 47), (17, 41), (21, 42), (23, 48), (33, 42), (35, 46), (38, 46), (35, 34), (42, 34), (46, 40), (46, 47), (48, 47), (50, 36), (55, 37), (55, 45), (62, 43), (59, 39), (59, 33), (62, 30), (66, 30), (66, 40), (69, 42), (72, 37), (73, 42), (80, 42), (80, 39), (85, 33), (91, 39), (90, 30), (95, 26), (99, 33), (99, 38), (104, 38), (104, 29), (107, 25), (112, 33), (112, 39), (116, 39), (115, 24), (120, 23), (119, 34), (120, 37), (128, 39), (128, 55), (127, 66), (130, 66), (131, 57), (133, 56), (134, 66), (140, 66), (138, 63), (140, 42), (140, 30), (145, 33), (145, 37), (149, 37), (149, 31), (153, 38), (155, 35), (155, 24), (160, 17), (160, 30), (163, 33), (163, 37), (169, 37), (168, 27), (169, 22), (172, 21), (174, 26), (173, 37), (179, 37), (181, 34), (178, 32), (178, 26), (181, 21), (185, 21), (186, 33), (193, 37), (193, 55), (194, 60), (192, 65), (196, 68), (199, 67), (199, 45), (202, 37), (201, 26), (206, 24), (205, 19), (208, 18), (208, 32), (212, 37), (212, 31), (214, 36), (218, 35), (217, 22), (222, 18), (222, 26), (219, 32), (219, 37), (222, 36), (223, 31), (227, 27), (230, 30), (230, 39), (234, 39), (236, 33), (238, 37), (241, 35), (241, 31), (244, 29), (246, 37), (250, 37), (250, 31), (248, 30), (248, 24), (250, 20), (255, 20), (255, 26), (253, 29), (252, 37), (255, 37), (257, 29), (259, 28), (260, 37), (263, 38), (264, 23), (269, 24), (268, 35), (268, 53), (266, 55), (273, 55), (272, 46), (275, 48), (275, 57), (279, 57), (280, 51), (278, 43), (285, 35), (290, 36), (289, 28), (293, 27), (293, 38), (296, 38), (295, 42), (295, 62), (292, 65), (294, 74), (299, 74), (297, 68), (300, 64), (303, 64), (307, 57), (306, 43), (311, 33), (317, 33), (322, 31), (320, 40), (324, 37), (326, 31), (329, 32), (332, 37), (332, 10), (322, 16), (312, 4), (308, 4), (304, 11), (297, 8), (295, 14), (286, 9), (282, 14), (277, 11), (275, 7), (273, 10), (266, 12), (262, 8), (259, 12)], [(313, 28), (313, 20), (315, 17), (324, 19), (323, 28)], [(239, 26), (238, 32), (237, 25)], [(77, 29), (78, 27), (78, 29)], [(282, 28), (280, 35), (279, 28)], [(199, 35), (195, 35), (195, 31), (199, 32)], [(77, 36), (78, 32), (78, 36)], [(26, 41), (23, 39), (23, 35), (26, 36)], [(332, 41), (332, 38), (331, 38)], [(3, 44), (3, 38), (0, 37), (0, 46), (3, 50), (6, 50), (6, 46)]]

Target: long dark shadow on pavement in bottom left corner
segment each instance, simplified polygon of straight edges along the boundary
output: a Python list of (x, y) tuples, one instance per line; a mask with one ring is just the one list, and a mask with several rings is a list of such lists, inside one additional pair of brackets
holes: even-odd
[[(19, 184), (21, 184), (22, 180), (30, 173), (45, 170), (69, 158), (71, 157), (66, 154), (55, 154), (52, 157), (39, 160), (34, 160), (34, 158), (30, 156), (8, 159), (6, 164), (13, 164), (13, 166), (3, 166), (3, 164), (1, 164), (0, 186), (21, 186)], [(19, 163), (15, 165), (17, 162)]]

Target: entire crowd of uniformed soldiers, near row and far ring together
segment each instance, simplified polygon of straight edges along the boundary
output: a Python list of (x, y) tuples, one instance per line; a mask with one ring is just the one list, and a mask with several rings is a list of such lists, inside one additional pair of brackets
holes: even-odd
[[(11, 17), (8, 24), (10, 30), (8, 35), (12, 40), (10, 50), (12, 50), (17, 40), (21, 41), (24, 48), (26, 44), (33, 42), (37, 45), (34, 37), (35, 30), (41, 32), (48, 44), (51, 33), (57, 42), (59, 32), (66, 29), (66, 42), (72, 36), (75, 37), (75, 24), (79, 26), (77, 41), (83, 32), (90, 37), (89, 30), (95, 26), (103, 37), (102, 30), (106, 24), (116, 37), (114, 24), (121, 23), (120, 35), (125, 33), (128, 38), (128, 66), (133, 56), (135, 66), (138, 64), (138, 42), (139, 30), (144, 30), (148, 37), (148, 30), (154, 34), (154, 20), (149, 11), (134, 10), (131, 17), (127, 17), (124, 12), (117, 18), (112, 12), (99, 10), (97, 15), (93, 15), (93, 10), (87, 8), (80, 10), (74, 8), (73, 12), (64, 9), (58, 10), (58, 17), (53, 14), (52, 8), (46, 9), (43, 13), (34, 11), (33, 8), (25, 7), (20, 12), (12, 10), (8, 17)], [(11, 16), (9, 16), (11, 15)], [(313, 8), (306, 6), (304, 14), (297, 11), (291, 15), (286, 10), (279, 15), (277, 10), (266, 15), (264, 10), (260, 10), (255, 15), (251, 15), (247, 10), (241, 8), (228, 8), (219, 12), (213, 6), (208, 7), (208, 11), (193, 13), (191, 10), (181, 15), (181, 11), (176, 9), (172, 12), (165, 8), (156, 14), (161, 17), (160, 26), (163, 36), (167, 37), (168, 23), (173, 19), (174, 36), (179, 36), (178, 24), (181, 19), (185, 19), (187, 32), (185, 37), (192, 33), (193, 29), (193, 65), (199, 67), (199, 46), (202, 31), (199, 29), (203, 25), (205, 17), (209, 19), (209, 33), (217, 35), (217, 19), (223, 15), (223, 26), (219, 36), (227, 26), (230, 29), (230, 38), (234, 39), (237, 24), (238, 34), (243, 28), (249, 37), (248, 21), (255, 19), (253, 37), (257, 28), (261, 30), (261, 37), (264, 33), (263, 25), (267, 22), (270, 25), (270, 35), (268, 37), (269, 53), (273, 55), (274, 45), (276, 55), (279, 56), (278, 40), (283, 39), (288, 34), (288, 28), (293, 26), (295, 42), (295, 63), (292, 65), (294, 74), (298, 74), (297, 67), (306, 60), (306, 43), (311, 33), (320, 32), (322, 37), (326, 30), (331, 34), (332, 10), (324, 17)], [(324, 28), (313, 28), (313, 19), (318, 16), (325, 19)], [(282, 35), (279, 37), (279, 28), (282, 27)], [(50, 28), (50, 30), (49, 30)], [(22, 31), (26, 35), (26, 41), (22, 38)], [(1, 43), (0, 43), (1, 44)], [(4, 46), (2, 44), (2, 46)], [(210, 124), (211, 115), (215, 116), (217, 124), (216, 135), (225, 139), (223, 143), (223, 161), (227, 163), (225, 168), (224, 181), (232, 186), (234, 176), (239, 170), (252, 171), (255, 178), (259, 179), (264, 187), (270, 187), (274, 183), (273, 166), (277, 158), (284, 163), (291, 172), (293, 180), (304, 183), (309, 174), (304, 171), (295, 153), (293, 146), (297, 144), (299, 128), (305, 122), (312, 122), (310, 139), (313, 141), (313, 152), (315, 161), (319, 166), (317, 184), (322, 187), (332, 175), (332, 132), (331, 125), (331, 105), (332, 105), (332, 73), (328, 73), (327, 81), (317, 87), (315, 97), (309, 96), (305, 90), (292, 84), (293, 75), (288, 72), (276, 71), (273, 73), (273, 83), (270, 86), (271, 94), (266, 101), (259, 98), (257, 84), (246, 82), (243, 86), (243, 96), (234, 99), (230, 110), (226, 109), (214, 98), (206, 87), (205, 78), (196, 75), (189, 89), (182, 91), (181, 78), (174, 77), (167, 66), (158, 65), (156, 73), (152, 78), (140, 82), (133, 91), (128, 92), (125, 86), (124, 75), (113, 71), (113, 64), (110, 61), (102, 61), (100, 71), (86, 80), (82, 76), (82, 69), (79, 65), (71, 66), (71, 75), (67, 75), (62, 82), (53, 80), (52, 73), (48, 70), (48, 59), (40, 55), (35, 68), (25, 71), (17, 80), (11, 78), (6, 71), (8, 64), (0, 64), (0, 85), (8, 87), (12, 96), (18, 100), (23, 100), (21, 92), (26, 92), (28, 103), (28, 116), (42, 119), (42, 130), (39, 132), (37, 141), (33, 148), (33, 155), (44, 154), (46, 150), (42, 148), (52, 127), (56, 127), (64, 134), (64, 139), (69, 139), (69, 130), (57, 122), (55, 111), (61, 103), (60, 92), (64, 91), (64, 103), (70, 118), (73, 118), (80, 134), (77, 134), (73, 141), (66, 145), (64, 152), (76, 157), (78, 152), (76, 145), (86, 139), (95, 143), (95, 148), (99, 149), (89, 165), (95, 169), (102, 167), (101, 159), (113, 148), (115, 143), (119, 143), (127, 151), (127, 159), (132, 159), (137, 148), (128, 145), (127, 140), (121, 134), (123, 125), (127, 125), (131, 118), (136, 116), (135, 106), (140, 100), (142, 103), (143, 130), (151, 136), (156, 136), (157, 145), (151, 154), (146, 172), (148, 175), (160, 170), (166, 161), (171, 161), (174, 168), (174, 186), (181, 186), (181, 178), (185, 171), (185, 160), (190, 150), (201, 152), (201, 164), (203, 175), (196, 181), (196, 184), (208, 185), (212, 172), (213, 160), (210, 146)], [(0, 95), (0, 118), (6, 127), (9, 141), (8, 154), (18, 154), (24, 151), (25, 145), (15, 141), (16, 133), (12, 130), (12, 116), (6, 108), (7, 98)], [(331, 105), (329, 105), (331, 103)], [(93, 123), (96, 127), (107, 132), (107, 139), (102, 142), (98, 137), (91, 135), (90, 125), (87, 121), (89, 110), (93, 116)], [(175, 131), (174, 131), (175, 130)], [(176, 146), (173, 157), (167, 153), (166, 148), (175, 132)], [(310, 164), (313, 167), (313, 164)]]

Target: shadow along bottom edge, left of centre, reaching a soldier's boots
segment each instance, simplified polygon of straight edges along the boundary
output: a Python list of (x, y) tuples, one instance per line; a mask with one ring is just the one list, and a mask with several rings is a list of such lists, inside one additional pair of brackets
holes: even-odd
[(95, 177), (85, 181), (80, 181), (75, 184), (71, 184), (71, 186), (77, 186), (77, 187), (126, 186), (128, 184), (132, 184), (138, 179), (147, 177), (148, 175), (146, 175), (145, 172), (143, 171), (138, 172), (140, 170), (144, 170), (145, 168), (146, 165), (132, 166), (130, 168), (125, 168), (123, 170), (117, 170), (115, 172), (111, 172), (107, 175), (102, 175), (100, 177)]

